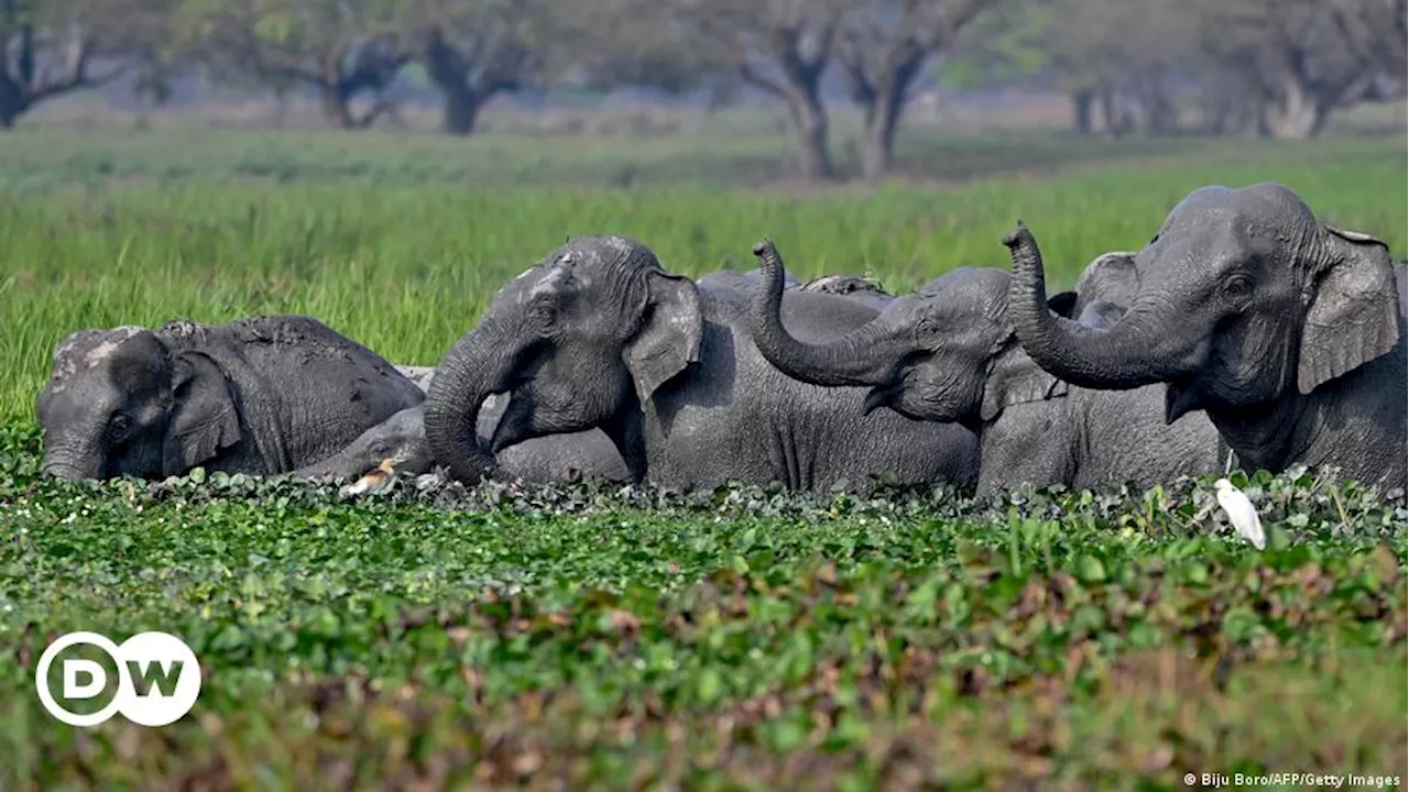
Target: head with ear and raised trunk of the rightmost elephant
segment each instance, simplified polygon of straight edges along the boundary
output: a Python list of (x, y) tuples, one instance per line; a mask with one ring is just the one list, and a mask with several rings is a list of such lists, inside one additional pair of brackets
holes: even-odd
[(1044, 369), (1084, 388), (1168, 383), (1165, 420), (1310, 393), (1399, 340), (1399, 299), (1379, 240), (1322, 224), (1288, 187), (1202, 187), (1130, 258), (1133, 299), (1110, 327), (1045, 310), (1041, 254), (1019, 224), (1017, 337)]

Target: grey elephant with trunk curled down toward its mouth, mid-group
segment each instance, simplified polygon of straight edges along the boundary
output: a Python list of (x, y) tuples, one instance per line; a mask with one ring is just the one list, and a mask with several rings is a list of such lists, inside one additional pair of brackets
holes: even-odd
[[(790, 290), (782, 303), (783, 320), (812, 338), (875, 316), (826, 293)], [(482, 448), (478, 406), (490, 393), (510, 402)], [(426, 435), (466, 482), (496, 475), (495, 455), (516, 443), (600, 427), (631, 481), (672, 489), (738, 481), (871, 492), (885, 476), (972, 490), (972, 433), (864, 416), (864, 396), (772, 368), (752, 344), (738, 289), (671, 275), (628, 237), (578, 237), (504, 285), (445, 354), (426, 400)]]

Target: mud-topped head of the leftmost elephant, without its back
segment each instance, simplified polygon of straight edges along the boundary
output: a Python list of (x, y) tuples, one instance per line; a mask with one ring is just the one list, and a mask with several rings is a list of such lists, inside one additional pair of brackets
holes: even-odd
[(59, 342), (37, 406), (44, 471), (68, 479), (176, 475), (241, 440), (216, 362), (141, 327), (80, 330)]

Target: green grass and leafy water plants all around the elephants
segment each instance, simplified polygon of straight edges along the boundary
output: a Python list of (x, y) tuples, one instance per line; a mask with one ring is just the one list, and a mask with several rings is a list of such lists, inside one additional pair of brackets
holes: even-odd
[[(799, 276), (905, 290), (1006, 266), (1023, 218), (1069, 285), (1188, 190), (1277, 179), (1409, 247), (1409, 141), (1099, 145), (913, 142), (923, 183), (805, 196), (768, 182), (782, 145), (762, 140), (7, 134), (0, 788), (1409, 776), (1409, 502), (1319, 472), (1253, 476), (1261, 554), (1188, 481), (347, 503), (242, 476), (37, 479), (34, 397), (73, 330), (297, 311), (434, 365), (568, 234), (631, 234), (692, 275), (751, 268), (766, 234)], [(75, 730), (39, 709), (49, 640), (147, 629), (201, 658), (190, 716)]]

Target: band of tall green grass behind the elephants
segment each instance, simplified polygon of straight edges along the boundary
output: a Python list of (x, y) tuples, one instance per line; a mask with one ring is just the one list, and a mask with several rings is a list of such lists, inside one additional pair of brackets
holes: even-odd
[[(62, 142), (79, 147), (77, 140)], [(347, 137), (294, 140), (325, 140), (320, 145), (344, 152), (341, 175), (240, 180), (218, 178), (213, 165), (162, 178), (142, 171), (138, 158), (128, 175), (149, 178), (100, 172), (38, 185), (20, 169), (23, 185), (0, 199), (0, 420), (32, 421), (54, 345), (83, 327), (293, 311), (393, 361), (433, 365), (506, 279), (576, 234), (638, 237), (666, 268), (690, 275), (752, 268), (750, 245), (769, 235), (799, 276), (868, 273), (906, 290), (954, 266), (1006, 266), (999, 238), (1023, 218), (1054, 280), (1067, 285), (1092, 256), (1144, 244), (1191, 189), (1277, 179), (1327, 220), (1379, 234), (1396, 251), (1409, 244), (1399, 221), (1409, 203), (1402, 165), (1409, 144), (1401, 141), (1230, 144), (1051, 178), (802, 199), (690, 185), (413, 183), (358, 176)], [(294, 148), (285, 154), (313, 156), (296, 156)], [(382, 140), (362, 154), (375, 162), (386, 151)], [(170, 156), (190, 158), (179, 148)], [(8, 175), (0, 183), (11, 185)]]

